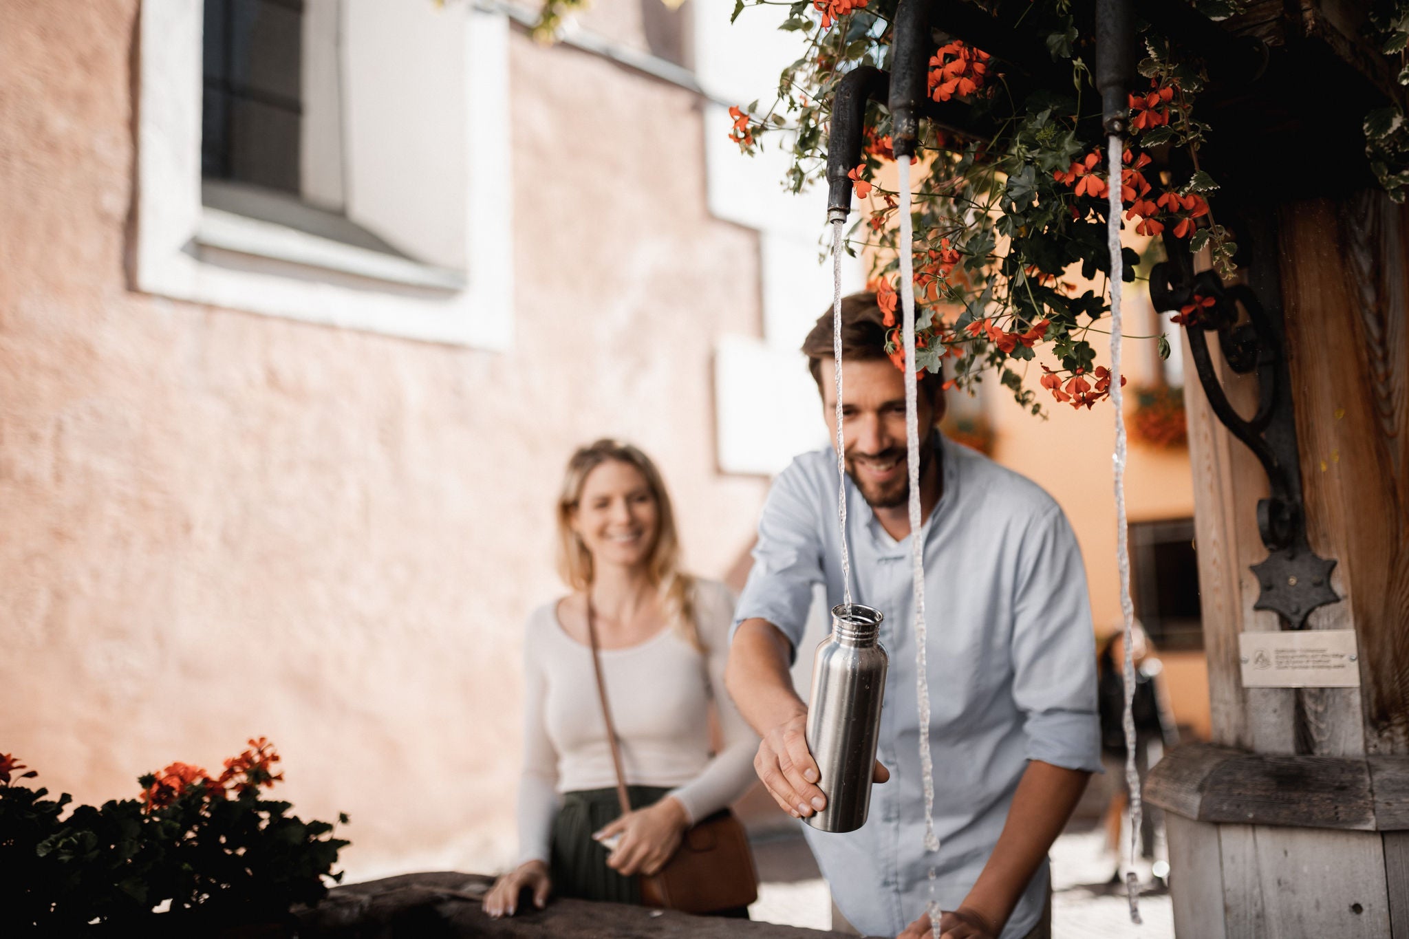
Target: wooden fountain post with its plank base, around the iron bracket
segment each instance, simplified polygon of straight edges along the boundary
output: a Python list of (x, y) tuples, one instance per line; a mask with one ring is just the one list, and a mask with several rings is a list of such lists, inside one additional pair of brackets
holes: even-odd
[[(1251, 608), (1267, 480), (1189, 383), (1219, 746), (1172, 752), (1147, 797), (1167, 809), (1181, 939), (1409, 939), (1409, 210), (1375, 191), (1292, 203), (1277, 241), (1308, 536), (1343, 597), (1308, 625), (1354, 629), (1361, 687), (1243, 687), (1239, 632), (1279, 628)], [(1224, 379), (1247, 408), (1255, 380)]]

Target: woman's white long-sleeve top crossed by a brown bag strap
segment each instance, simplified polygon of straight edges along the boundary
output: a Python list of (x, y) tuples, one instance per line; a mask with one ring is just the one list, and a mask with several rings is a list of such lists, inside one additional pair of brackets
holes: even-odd
[[(754, 779), (758, 736), (724, 690), (734, 597), (695, 584), (704, 652), (674, 626), (624, 649), (602, 650), (612, 719), (628, 786), (671, 790), (692, 822), (738, 798)], [(709, 704), (723, 748), (712, 753)], [(548, 860), (559, 793), (612, 788), (616, 771), (592, 669), (592, 649), (558, 621), (558, 601), (528, 617), (524, 635), (524, 764), (519, 786), (519, 860)]]

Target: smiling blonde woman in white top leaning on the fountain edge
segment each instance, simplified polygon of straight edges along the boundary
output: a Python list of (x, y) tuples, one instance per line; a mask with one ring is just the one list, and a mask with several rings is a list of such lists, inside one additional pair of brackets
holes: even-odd
[[(752, 781), (758, 738), (724, 691), (734, 598), (679, 570), (675, 517), (650, 458), (610, 439), (578, 449), (558, 498), (558, 542), (572, 593), (528, 618), (520, 864), (485, 897), (490, 916), (513, 915), (526, 890), (537, 907), (550, 891), (640, 902), (635, 874), (658, 871), (690, 825)], [(593, 629), (633, 809), (626, 815)], [(713, 755), (712, 701), (723, 736)]]

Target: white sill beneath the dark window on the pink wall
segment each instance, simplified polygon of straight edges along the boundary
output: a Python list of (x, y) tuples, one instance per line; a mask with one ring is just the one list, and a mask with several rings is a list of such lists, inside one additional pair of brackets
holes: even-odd
[(430, 290), (464, 290), (465, 275), (396, 258), (379, 251), (345, 245), (296, 228), (237, 215), (221, 208), (201, 208), (194, 244), (197, 258), (207, 260), (207, 251), (228, 251), (290, 265), (335, 270), (382, 283)]

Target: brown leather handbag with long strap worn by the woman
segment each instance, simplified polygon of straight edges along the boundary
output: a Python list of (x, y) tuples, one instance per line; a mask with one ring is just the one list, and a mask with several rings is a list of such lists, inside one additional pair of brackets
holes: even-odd
[[(626, 815), (631, 811), (631, 800), (626, 791), (621, 749), (617, 746), (616, 725), (612, 722), (612, 708), (607, 705), (607, 688), (602, 680), (595, 619), (589, 600), (588, 638), (592, 641), (592, 666), (597, 673), (597, 695), (602, 698), (602, 717), (607, 724), (607, 743), (612, 745), (617, 801), (621, 804), (621, 814)], [(665, 862), (665, 867), (651, 876), (640, 874), (638, 881), (643, 904), (681, 912), (719, 912), (747, 907), (758, 900), (758, 871), (754, 869), (748, 835), (727, 808), (690, 826), (681, 839), (681, 846)]]

